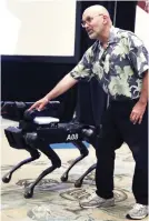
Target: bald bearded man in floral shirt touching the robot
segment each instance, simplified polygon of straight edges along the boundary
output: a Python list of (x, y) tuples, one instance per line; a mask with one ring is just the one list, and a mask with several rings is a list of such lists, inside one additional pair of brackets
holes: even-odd
[(115, 150), (125, 141), (136, 161), (132, 183), (136, 204), (127, 217), (142, 219), (148, 215), (148, 52), (135, 33), (113, 27), (109, 12), (101, 6), (85, 10), (82, 27), (89, 38), (97, 41), (74, 69), (30, 109), (41, 110), (80, 79), (90, 80), (95, 76), (109, 94), (110, 102), (97, 149), (97, 191), (80, 201), (80, 205), (97, 208), (115, 204)]

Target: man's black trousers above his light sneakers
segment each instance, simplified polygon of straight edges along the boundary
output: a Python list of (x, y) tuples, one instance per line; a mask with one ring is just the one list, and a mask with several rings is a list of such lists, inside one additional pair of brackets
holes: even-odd
[(105, 113), (96, 151), (97, 194), (106, 199), (113, 197), (115, 150), (126, 142), (136, 162), (133, 195), (138, 203), (148, 204), (148, 108), (141, 124), (133, 124), (130, 113), (136, 102), (137, 100), (111, 101)]

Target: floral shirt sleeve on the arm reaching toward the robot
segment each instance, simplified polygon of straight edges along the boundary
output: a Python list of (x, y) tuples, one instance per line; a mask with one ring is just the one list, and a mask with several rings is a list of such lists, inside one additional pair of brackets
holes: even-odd
[(83, 54), (79, 63), (70, 71), (70, 76), (76, 80), (90, 81), (93, 77), (91, 71), (92, 62), (92, 47), (90, 47)]

